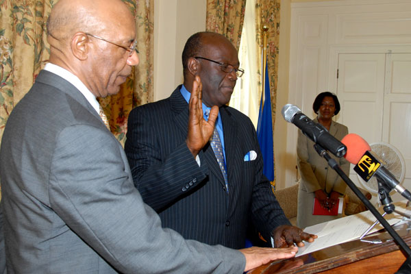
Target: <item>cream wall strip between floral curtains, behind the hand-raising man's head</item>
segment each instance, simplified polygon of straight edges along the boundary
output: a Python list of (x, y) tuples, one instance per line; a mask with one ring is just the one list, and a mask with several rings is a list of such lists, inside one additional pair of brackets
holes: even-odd
[(204, 30), (206, 0), (154, 0), (154, 101), (182, 84), (184, 44)]

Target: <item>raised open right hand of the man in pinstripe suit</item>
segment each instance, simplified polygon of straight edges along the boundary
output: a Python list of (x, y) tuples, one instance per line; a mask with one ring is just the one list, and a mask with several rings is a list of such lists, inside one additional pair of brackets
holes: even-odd
[(219, 107), (214, 105), (210, 110), (208, 121), (204, 120), (201, 101), (202, 87), (200, 77), (196, 76), (195, 81), (192, 82), (190, 101), (188, 101), (189, 114), (186, 139), (187, 147), (194, 157), (210, 140), (214, 131), (214, 124), (219, 116)]

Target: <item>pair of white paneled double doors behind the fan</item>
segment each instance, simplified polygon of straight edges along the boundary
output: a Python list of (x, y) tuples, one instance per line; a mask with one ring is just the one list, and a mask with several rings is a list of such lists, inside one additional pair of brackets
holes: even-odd
[[(406, 159), (407, 189), (411, 187), (411, 54), (341, 53), (338, 55), (337, 96), (347, 125), (370, 144), (388, 142)], [(408, 166), (408, 169), (407, 169)], [(357, 182), (352, 170), (350, 177)], [(400, 199), (393, 195), (393, 199)]]

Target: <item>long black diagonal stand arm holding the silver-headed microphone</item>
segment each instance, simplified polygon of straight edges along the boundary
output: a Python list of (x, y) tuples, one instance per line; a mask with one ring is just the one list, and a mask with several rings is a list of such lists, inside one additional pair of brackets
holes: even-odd
[[(401, 266), (400, 270), (403, 269), (403, 267), (408, 266), (408, 271), (411, 270), (411, 249), (408, 247), (406, 242), (395, 232), (395, 229), (390, 226), (390, 224), (384, 219), (384, 217), (379, 214), (378, 210), (371, 204), (371, 202), (366, 199), (366, 197), (362, 194), (362, 192), (357, 188), (357, 186), (349, 179), (347, 175), (345, 175), (344, 171), (341, 169), (341, 167), (337, 164), (336, 160), (331, 158), (331, 156), (327, 153), (327, 151), (321, 147), (319, 144), (314, 145), (314, 149), (316, 150), (317, 153), (321, 157), (323, 157), (325, 160), (327, 160), (327, 163), (329, 166), (332, 167), (340, 175), (340, 177), (344, 180), (344, 182), (353, 190), (353, 192), (357, 195), (357, 197), (364, 203), (364, 206), (368, 208), (368, 210), (371, 211), (371, 213), (377, 218), (379, 223), (382, 224), (382, 226), (386, 229), (386, 231), (393, 237), (395, 242), (397, 242), (397, 245), (399, 245), (401, 251), (403, 254), (406, 256), (407, 260), (404, 262), (404, 264)], [(402, 270), (404, 271), (404, 270)], [(406, 272), (404, 272), (406, 273)]]

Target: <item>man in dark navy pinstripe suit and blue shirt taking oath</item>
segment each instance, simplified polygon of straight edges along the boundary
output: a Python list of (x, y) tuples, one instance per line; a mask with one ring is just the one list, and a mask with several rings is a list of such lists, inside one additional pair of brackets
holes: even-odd
[[(262, 175), (253, 124), (226, 105), (243, 73), (232, 43), (220, 34), (194, 34), (182, 61), (184, 85), (171, 97), (129, 114), (125, 151), (143, 200), (160, 214), (163, 227), (210, 245), (243, 248), (249, 223), (264, 239), (273, 236), (277, 247), (314, 240), (290, 225)], [(202, 137), (188, 123), (190, 88), (197, 76), (203, 111), (210, 110), (210, 120), (218, 115), (215, 127), (223, 144), (227, 184), (210, 142), (192, 149), (194, 137)], [(200, 117), (207, 119), (206, 114)]]

